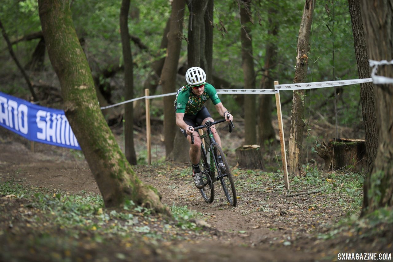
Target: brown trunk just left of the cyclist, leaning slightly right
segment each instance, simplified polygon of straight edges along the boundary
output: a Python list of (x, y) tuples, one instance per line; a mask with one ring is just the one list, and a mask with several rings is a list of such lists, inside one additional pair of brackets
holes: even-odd
[[(174, 0), (172, 2), (171, 25), (168, 33), (168, 48), (164, 66), (161, 73), (161, 83), (163, 93), (175, 92), (177, 65), (182, 45), (182, 30), (184, 18), (184, 0)], [(165, 96), (164, 100), (164, 136), (165, 151), (168, 157), (173, 149), (173, 140), (176, 127), (175, 113), (173, 109), (173, 96)], [(176, 127), (177, 128), (177, 127)]]

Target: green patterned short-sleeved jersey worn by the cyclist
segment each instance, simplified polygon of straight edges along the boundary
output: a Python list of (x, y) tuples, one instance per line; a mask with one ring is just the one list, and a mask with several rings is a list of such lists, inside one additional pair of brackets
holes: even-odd
[(177, 91), (176, 100), (174, 101), (176, 113), (197, 114), (209, 98), (214, 105), (221, 102), (213, 85), (205, 83), (204, 88), (204, 92), (200, 96), (192, 92), (190, 85), (180, 88)]

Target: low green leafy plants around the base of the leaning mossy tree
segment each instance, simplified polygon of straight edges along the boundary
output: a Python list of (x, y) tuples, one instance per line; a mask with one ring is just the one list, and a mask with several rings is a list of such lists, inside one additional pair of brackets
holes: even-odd
[[(131, 232), (138, 232), (149, 237), (158, 237), (146, 223), (140, 223), (140, 220), (154, 220), (151, 210), (135, 205), (133, 201), (127, 201), (122, 210), (108, 210), (104, 208), (103, 199), (99, 194), (68, 194), (44, 188), (29, 189), (13, 181), (0, 183), (0, 195), (26, 199), (27, 207), (40, 210), (46, 217), (44, 220), (51, 221), (51, 225), (55, 227), (67, 230), (73, 237), (78, 237), (80, 229), (97, 234), (126, 236)], [(171, 207), (171, 211), (175, 225), (180, 229), (200, 229), (194, 222), (195, 218), (201, 216), (200, 213), (189, 210), (187, 206), (175, 205)], [(37, 215), (33, 218), (37, 223), (41, 219)], [(171, 228), (170, 225), (165, 227), (167, 230)]]

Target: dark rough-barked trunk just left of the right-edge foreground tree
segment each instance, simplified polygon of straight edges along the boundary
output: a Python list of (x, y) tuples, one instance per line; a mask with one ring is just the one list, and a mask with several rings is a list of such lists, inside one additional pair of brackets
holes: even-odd
[[(365, 45), (360, 0), (348, 0), (351, 14), (353, 39), (355, 44), (356, 61), (358, 63), (359, 78), (370, 77), (367, 47)], [(366, 140), (366, 159), (364, 172), (368, 173), (374, 163), (378, 151), (378, 131), (376, 128), (375, 99), (373, 83), (360, 84), (360, 100)]]

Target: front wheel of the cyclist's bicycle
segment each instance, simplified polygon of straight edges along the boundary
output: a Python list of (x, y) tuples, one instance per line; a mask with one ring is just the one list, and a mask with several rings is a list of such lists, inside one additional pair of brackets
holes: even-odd
[[(226, 199), (228, 199), (229, 204), (235, 207), (237, 203), (237, 197), (236, 197), (235, 183), (233, 183), (233, 177), (230, 167), (228, 165), (228, 162), (226, 162), (225, 155), (222, 152), (222, 149), (220, 148), (219, 145), (215, 144), (213, 146), (213, 152), (214, 152), (215, 162), (218, 165), (217, 175), (218, 178), (220, 179), (222, 189), (224, 190)], [(218, 155), (221, 155), (220, 161)], [(222, 164), (220, 164), (220, 162)]]

